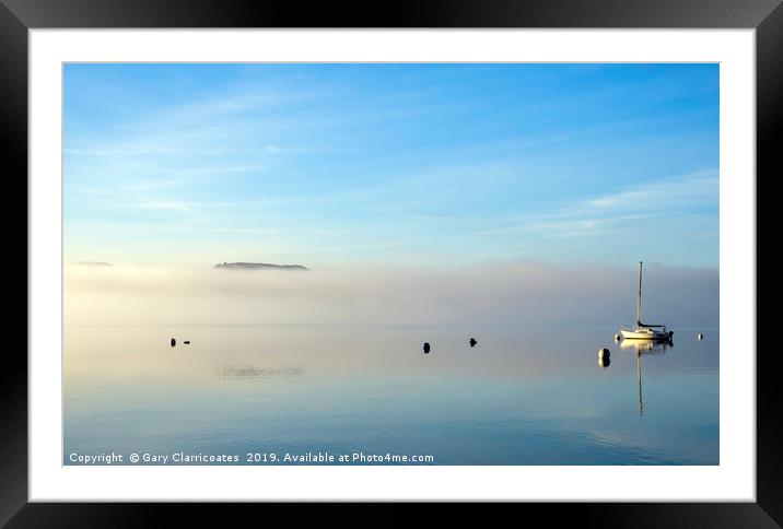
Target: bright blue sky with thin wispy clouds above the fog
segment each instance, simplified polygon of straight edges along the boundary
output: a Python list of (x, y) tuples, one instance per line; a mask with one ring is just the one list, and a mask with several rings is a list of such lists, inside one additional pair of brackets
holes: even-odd
[(718, 264), (717, 64), (67, 64), (66, 260)]

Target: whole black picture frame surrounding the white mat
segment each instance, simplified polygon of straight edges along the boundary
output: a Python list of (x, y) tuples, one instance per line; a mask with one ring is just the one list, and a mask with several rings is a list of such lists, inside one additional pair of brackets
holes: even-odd
[[(562, 27), (755, 28), (757, 186), (783, 166), (775, 140), (783, 128), (782, 0), (397, 0), (384, 3), (234, 0), (0, 0), (0, 149), (8, 186), (27, 177), (27, 32), (89, 27)], [(767, 186), (767, 184), (764, 184)], [(27, 197), (26, 185), (8, 191), (7, 204)], [(763, 197), (758, 193), (757, 197)], [(768, 198), (769, 200), (769, 198)], [(26, 201), (25, 201), (26, 203)], [(757, 202), (758, 203), (758, 202)], [(4, 208), (7, 239), (21, 230), (15, 208)], [(757, 224), (763, 225), (757, 205)], [(25, 232), (27, 233), (27, 232)], [(19, 242), (21, 246), (21, 240)], [(25, 247), (27, 239), (25, 238)], [(770, 245), (775, 246), (775, 245)], [(772, 251), (770, 246), (760, 248)], [(19, 247), (19, 246), (17, 246)], [(766, 272), (757, 250), (757, 274)], [(8, 256), (19, 273), (16, 256)], [(768, 261), (769, 262), (769, 261)], [(27, 262), (30, 266), (30, 262)], [(767, 275), (764, 273), (764, 275)], [(769, 275), (767, 275), (769, 277)], [(28, 279), (30, 281), (30, 279)], [(9, 281), (12, 282), (12, 281)], [(21, 283), (21, 282), (17, 282)], [(27, 285), (30, 287), (30, 284)], [(764, 289), (772, 297), (776, 286)], [(26, 303), (25, 303), (26, 306)], [(20, 315), (21, 311), (15, 314)], [(767, 313), (769, 314), (769, 313)], [(21, 319), (21, 316), (13, 316)], [(26, 311), (25, 311), (26, 318)], [(759, 314), (757, 328), (772, 324)], [(10, 329), (21, 329), (10, 320)], [(761, 325), (759, 325), (761, 324)], [(25, 329), (27, 327), (25, 326)], [(55, 504), (27, 502), (27, 358), (10, 340), (0, 368), (0, 524), (8, 527), (139, 527), (176, 514), (229, 525), (253, 506), (202, 504)], [(25, 333), (25, 340), (26, 340)], [(752, 344), (750, 340), (748, 343)], [(26, 342), (25, 342), (26, 351)], [(748, 351), (732, 352), (752, 357)], [(783, 436), (774, 348), (757, 354), (757, 503), (525, 504), (550, 522), (563, 518), (601, 527), (780, 527), (783, 524)], [(384, 509), (386, 510), (386, 509)]]

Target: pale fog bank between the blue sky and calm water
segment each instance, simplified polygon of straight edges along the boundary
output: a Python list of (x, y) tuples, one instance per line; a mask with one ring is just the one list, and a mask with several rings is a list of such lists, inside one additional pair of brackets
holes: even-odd
[[(718, 325), (718, 272), (645, 267), (644, 320)], [(536, 262), (235, 271), (78, 267), (65, 272), (66, 325), (617, 326), (634, 319), (635, 268)]]

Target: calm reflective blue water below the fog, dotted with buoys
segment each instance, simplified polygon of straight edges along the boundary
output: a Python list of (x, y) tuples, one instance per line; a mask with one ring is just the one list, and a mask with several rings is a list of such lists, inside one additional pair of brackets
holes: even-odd
[(638, 354), (615, 329), (67, 327), (63, 462), (320, 451), (717, 465), (718, 333), (699, 331)]

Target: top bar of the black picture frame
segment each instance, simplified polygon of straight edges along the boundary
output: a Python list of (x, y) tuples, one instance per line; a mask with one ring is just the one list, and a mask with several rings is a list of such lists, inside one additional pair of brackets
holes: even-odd
[(780, 0), (1, 0), (28, 27), (757, 27)]

